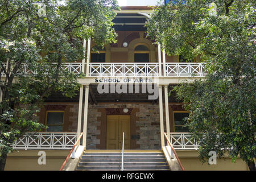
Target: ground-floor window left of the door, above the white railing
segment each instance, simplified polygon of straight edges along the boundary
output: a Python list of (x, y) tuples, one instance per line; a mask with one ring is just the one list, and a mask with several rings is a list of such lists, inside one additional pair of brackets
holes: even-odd
[(47, 131), (59, 132), (63, 131), (64, 111), (47, 111), (46, 112), (46, 125)]

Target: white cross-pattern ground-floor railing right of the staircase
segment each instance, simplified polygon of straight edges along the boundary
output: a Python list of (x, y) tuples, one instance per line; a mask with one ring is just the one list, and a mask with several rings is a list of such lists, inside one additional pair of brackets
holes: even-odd
[(191, 138), (190, 133), (170, 133), (171, 143), (175, 150), (198, 150), (199, 145)]

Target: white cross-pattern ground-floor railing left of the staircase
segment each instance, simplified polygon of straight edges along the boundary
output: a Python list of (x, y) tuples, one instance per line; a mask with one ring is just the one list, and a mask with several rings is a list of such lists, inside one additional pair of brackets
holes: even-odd
[(15, 150), (70, 150), (76, 143), (77, 133), (49, 133), (27, 134), (15, 141)]

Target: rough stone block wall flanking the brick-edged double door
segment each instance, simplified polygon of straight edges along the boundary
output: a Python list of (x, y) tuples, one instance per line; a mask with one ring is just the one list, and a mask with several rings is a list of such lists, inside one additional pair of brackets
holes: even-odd
[[(89, 105), (88, 110), (88, 130), (87, 130), (87, 148), (88, 149), (100, 149), (97, 145), (103, 145), (106, 137), (106, 128), (100, 128), (103, 114), (100, 109), (105, 108), (124, 108), (123, 104), (98, 104)], [(131, 146), (132, 149), (160, 149), (160, 118), (159, 118), (159, 106), (152, 104), (126, 104), (129, 109), (136, 109), (134, 112), (135, 121), (131, 121)], [(135, 140), (135, 141), (132, 141)]]

